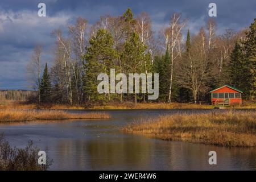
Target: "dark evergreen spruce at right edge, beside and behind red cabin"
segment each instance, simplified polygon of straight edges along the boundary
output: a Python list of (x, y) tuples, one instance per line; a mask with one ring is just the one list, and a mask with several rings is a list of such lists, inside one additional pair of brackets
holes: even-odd
[(230, 62), (226, 67), (230, 84), (243, 90), (243, 97), (255, 99), (256, 97), (256, 19), (251, 23), (246, 39), (237, 42)]

